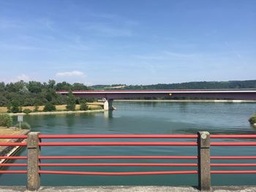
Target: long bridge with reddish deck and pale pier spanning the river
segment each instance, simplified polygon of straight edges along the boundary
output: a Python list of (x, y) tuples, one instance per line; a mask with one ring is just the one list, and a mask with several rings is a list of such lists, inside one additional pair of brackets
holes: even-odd
[[(56, 91), (67, 95), (69, 91)], [(75, 96), (82, 98), (102, 99), (104, 110), (113, 110), (113, 99), (155, 98), (197, 98), (197, 99), (239, 99), (256, 100), (256, 90), (115, 90), (115, 91), (72, 91)]]

